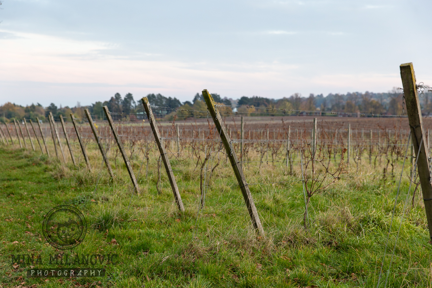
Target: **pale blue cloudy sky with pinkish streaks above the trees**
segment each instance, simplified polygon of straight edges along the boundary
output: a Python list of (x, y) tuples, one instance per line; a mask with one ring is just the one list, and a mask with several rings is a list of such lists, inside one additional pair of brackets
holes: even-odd
[(432, 1), (3, 0), (0, 104), (388, 92), (432, 85)]

